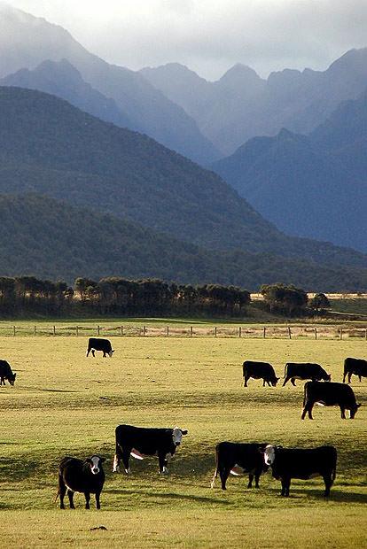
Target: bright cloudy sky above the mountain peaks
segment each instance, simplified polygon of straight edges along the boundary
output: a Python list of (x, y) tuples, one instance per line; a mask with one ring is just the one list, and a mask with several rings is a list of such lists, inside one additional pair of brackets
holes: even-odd
[(324, 70), (367, 46), (367, 0), (6, 0), (65, 27), (110, 63), (138, 70), (178, 62), (207, 80), (230, 66), (263, 77)]

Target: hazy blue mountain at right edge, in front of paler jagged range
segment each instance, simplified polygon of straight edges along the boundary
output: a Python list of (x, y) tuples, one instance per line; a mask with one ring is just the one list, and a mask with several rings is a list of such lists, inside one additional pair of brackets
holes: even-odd
[(367, 251), (367, 93), (310, 135), (249, 140), (215, 171), (285, 232)]

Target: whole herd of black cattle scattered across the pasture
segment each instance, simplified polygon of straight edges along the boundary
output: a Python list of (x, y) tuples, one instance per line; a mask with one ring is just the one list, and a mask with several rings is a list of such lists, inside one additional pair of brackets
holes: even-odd
[[(87, 357), (95, 351), (113, 356), (113, 348), (107, 339), (90, 337)], [(357, 375), (361, 382), (362, 377), (367, 377), (367, 360), (347, 358), (344, 362), (343, 383), (332, 383), (331, 375), (327, 374), (323, 367), (313, 363), (293, 363), (285, 365), (284, 383), (288, 381), (295, 386), (295, 380), (310, 380), (304, 386), (304, 401), (301, 419), (308, 414), (312, 418), (312, 408), (315, 404), (321, 406), (340, 406), (341, 417), (345, 419), (345, 411), (349, 410), (351, 419), (360, 404), (356, 403), (355, 393), (346, 381), (351, 382), (352, 375)], [(250, 378), (262, 379), (262, 385), (276, 386), (279, 377), (274, 368), (267, 362), (246, 360), (243, 363), (243, 376), (245, 387)], [(0, 360), (0, 385), (5, 380), (13, 385), (16, 374), (6, 360)], [(326, 382), (326, 383), (324, 383)], [(176, 448), (181, 444), (187, 430), (175, 427), (141, 428), (133, 425), (119, 425), (115, 429), (116, 449), (113, 458), (113, 472), (120, 470), (121, 460), (126, 474), (129, 475), (129, 459), (133, 456), (137, 460), (143, 460), (144, 456), (156, 455), (159, 460), (161, 474), (168, 473), (168, 459), (172, 457)], [(86, 460), (66, 457), (59, 464), (59, 491), (60, 508), (64, 509), (64, 499), (67, 493), (70, 508), (74, 509), (74, 492), (82, 492), (85, 496), (87, 509), (90, 508), (90, 494), (95, 494), (96, 506), (100, 508), (100, 494), (105, 483), (105, 471), (103, 469), (104, 458), (93, 455)], [(215, 475), (211, 487), (214, 487), (215, 478), (221, 478), (222, 489), (226, 490), (226, 482), (230, 474), (248, 474), (248, 488), (259, 488), (259, 479), (268, 468), (272, 469), (272, 476), (281, 481), (282, 496), (289, 496), (289, 488), (293, 478), (307, 480), (314, 476), (322, 476), (324, 479), (324, 496), (330, 494), (332, 483), (335, 479), (337, 463), (337, 451), (334, 446), (320, 446), (317, 448), (284, 448), (282, 446), (264, 443), (233, 443), (221, 442), (215, 447)]]

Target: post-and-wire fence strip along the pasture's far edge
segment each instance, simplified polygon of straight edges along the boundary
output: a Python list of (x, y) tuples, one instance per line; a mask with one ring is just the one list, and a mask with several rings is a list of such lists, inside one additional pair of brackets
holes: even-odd
[(122, 337), (243, 337), (257, 339), (367, 340), (367, 328), (357, 326), (5, 326), (0, 336), (122, 336)]

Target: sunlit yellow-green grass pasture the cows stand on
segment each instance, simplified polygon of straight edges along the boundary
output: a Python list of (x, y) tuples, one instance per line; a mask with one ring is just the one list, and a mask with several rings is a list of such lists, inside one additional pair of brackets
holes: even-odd
[[(365, 357), (364, 340), (113, 338), (113, 359), (86, 358), (86, 339), (0, 337), (0, 357), (17, 383), (0, 388), (0, 540), (4, 547), (363, 547), (367, 527), (367, 383), (353, 387), (355, 420), (318, 408), (301, 421), (302, 385), (242, 387), (245, 359), (322, 364), (341, 381), (345, 357)], [(168, 476), (155, 458), (132, 460), (132, 475), (111, 473), (119, 423), (189, 429)], [(336, 482), (294, 481), (291, 497), (268, 473), (259, 491), (230, 477), (210, 489), (221, 440), (335, 445)], [(61, 511), (55, 503), (61, 457), (106, 458), (101, 511)], [(90, 530), (104, 525), (107, 530)]]

